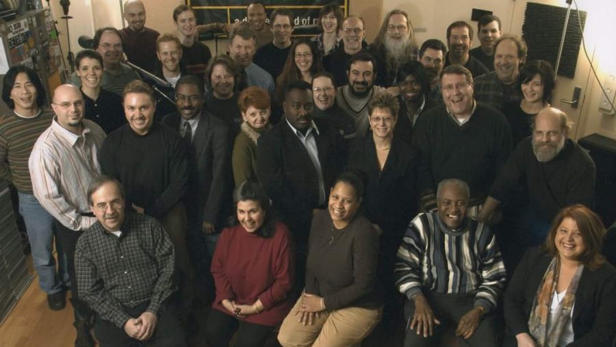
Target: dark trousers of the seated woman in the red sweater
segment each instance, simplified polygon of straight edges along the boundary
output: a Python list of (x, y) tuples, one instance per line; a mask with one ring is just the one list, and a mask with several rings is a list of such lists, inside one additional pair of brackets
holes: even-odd
[(211, 309), (205, 326), (207, 346), (229, 346), (229, 341), (231, 341), (231, 337), (236, 330), (238, 331), (238, 341), (235, 342), (235, 347), (261, 347), (271, 335), (274, 326), (240, 322), (217, 309)]

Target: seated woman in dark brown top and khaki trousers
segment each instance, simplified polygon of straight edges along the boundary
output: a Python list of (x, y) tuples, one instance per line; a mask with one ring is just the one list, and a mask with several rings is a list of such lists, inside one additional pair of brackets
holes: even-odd
[(317, 211), (310, 229), (306, 287), (278, 335), (285, 346), (353, 346), (381, 320), (376, 290), (378, 235), (357, 214), (363, 182), (339, 175), (328, 211)]

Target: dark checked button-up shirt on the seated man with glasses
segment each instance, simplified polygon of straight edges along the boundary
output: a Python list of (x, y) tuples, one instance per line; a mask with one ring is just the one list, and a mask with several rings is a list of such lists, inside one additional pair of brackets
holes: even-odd
[(161, 313), (174, 291), (173, 246), (162, 225), (149, 216), (127, 213), (120, 236), (96, 222), (77, 241), (75, 275), (79, 296), (103, 320), (123, 328), (131, 318), (123, 309), (148, 302)]

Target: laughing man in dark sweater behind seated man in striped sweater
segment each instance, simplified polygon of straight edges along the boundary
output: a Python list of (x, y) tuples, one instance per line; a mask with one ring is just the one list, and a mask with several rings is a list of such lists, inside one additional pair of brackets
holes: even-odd
[(461, 179), (470, 185), (470, 216), (476, 216), (511, 152), (509, 123), (493, 107), (473, 99), (473, 77), (459, 65), (441, 72), (444, 105), (421, 116), (413, 131), (418, 149), (418, 184), (424, 209), (435, 207), (439, 181)]

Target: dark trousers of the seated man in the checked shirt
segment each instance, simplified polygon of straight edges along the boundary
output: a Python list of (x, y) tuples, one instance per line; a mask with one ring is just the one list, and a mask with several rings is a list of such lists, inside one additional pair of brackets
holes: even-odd
[[(186, 334), (180, 322), (179, 307), (176, 300), (168, 300), (164, 308), (157, 316), (156, 329), (153, 335), (146, 341), (139, 341), (129, 337), (124, 328), (103, 320), (99, 316), (94, 322), (94, 335), (99, 340), (101, 347), (182, 347), (186, 346)], [(136, 307), (123, 307), (124, 311), (132, 318), (138, 318), (148, 308), (146, 301)]]

